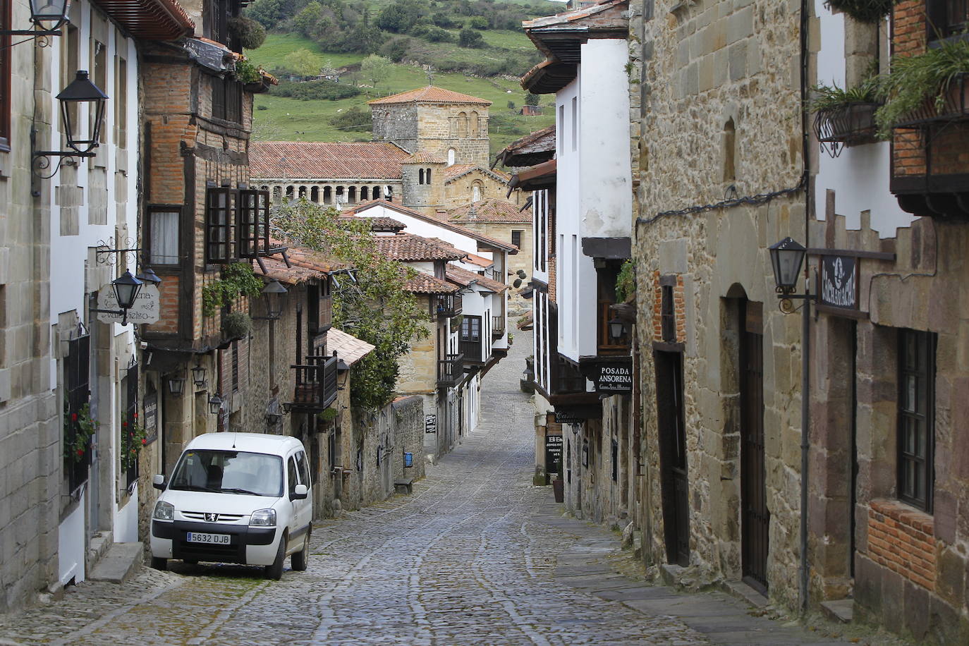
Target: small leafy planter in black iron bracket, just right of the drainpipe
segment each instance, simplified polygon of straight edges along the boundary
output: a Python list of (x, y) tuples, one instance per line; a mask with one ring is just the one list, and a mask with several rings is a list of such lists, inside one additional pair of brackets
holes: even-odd
[(858, 145), (876, 139), (875, 112), (881, 107), (879, 79), (872, 76), (855, 87), (842, 89), (836, 83), (821, 83), (811, 88), (810, 109), (814, 112), (814, 134), (831, 145), (837, 155), (838, 143)]

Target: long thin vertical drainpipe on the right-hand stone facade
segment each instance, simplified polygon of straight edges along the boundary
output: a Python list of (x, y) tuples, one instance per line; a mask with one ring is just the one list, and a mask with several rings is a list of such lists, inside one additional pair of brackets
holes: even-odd
[[(809, 0), (800, 2), (800, 114), (801, 145), (804, 165), (804, 246), (810, 248), (811, 219), (811, 138), (808, 130), (808, 115), (804, 109), (808, 100), (808, 51)], [(810, 446), (811, 424), (811, 269), (804, 262), (804, 306), (801, 308), (801, 354), (800, 354), (800, 611), (807, 612), (807, 589), (810, 569), (807, 560), (807, 470), (808, 448)]]

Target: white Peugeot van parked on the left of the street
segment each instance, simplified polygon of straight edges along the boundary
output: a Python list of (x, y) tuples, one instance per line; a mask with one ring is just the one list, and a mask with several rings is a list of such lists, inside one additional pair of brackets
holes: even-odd
[(296, 438), (206, 433), (185, 447), (151, 514), (151, 567), (169, 559), (306, 569), (313, 519), (306, 450)]

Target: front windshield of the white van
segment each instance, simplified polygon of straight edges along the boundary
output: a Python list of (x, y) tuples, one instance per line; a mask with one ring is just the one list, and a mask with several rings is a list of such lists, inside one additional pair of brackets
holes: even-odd
[(169, 488), (279, 498), (283, 495), (283, 460), (266, 453), (187, 450), (178, 460)]

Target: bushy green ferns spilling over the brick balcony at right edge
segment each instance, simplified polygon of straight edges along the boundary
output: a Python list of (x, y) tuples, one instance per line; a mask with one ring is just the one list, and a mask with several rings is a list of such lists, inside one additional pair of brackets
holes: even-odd
[(891, 129), (969, 117), (969, 41), (940, 40), (924, 53), (892, 56), (891, 72), (879, 88), (878, 136)]

